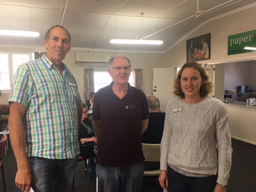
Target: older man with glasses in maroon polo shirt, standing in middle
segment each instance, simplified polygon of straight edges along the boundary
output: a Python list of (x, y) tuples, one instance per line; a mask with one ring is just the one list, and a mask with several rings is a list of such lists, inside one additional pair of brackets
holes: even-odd
[(131, 62), (108, 62), (113, 82), (94, 96), (93, 126), (98, 139), (96, 174), (101, 192), (140, 192), (144, 174), (141, 135), (148, 126), (145, 94), (128, 83)]

